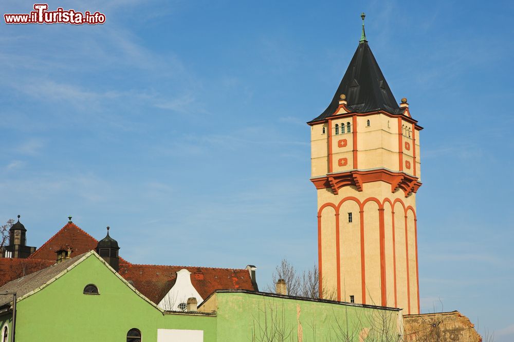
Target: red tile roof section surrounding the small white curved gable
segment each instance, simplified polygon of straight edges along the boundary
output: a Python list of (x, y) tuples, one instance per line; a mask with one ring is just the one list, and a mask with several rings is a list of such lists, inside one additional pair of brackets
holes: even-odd
[(133, 284), (146, 298), (159, 304), (175, 284), (176, 272), (183, 268), (191, 272), (191, 284), (203, 299), (216, 290), (254, 291), (250, 273), (246, 269), (120, 263), (119, 274)]

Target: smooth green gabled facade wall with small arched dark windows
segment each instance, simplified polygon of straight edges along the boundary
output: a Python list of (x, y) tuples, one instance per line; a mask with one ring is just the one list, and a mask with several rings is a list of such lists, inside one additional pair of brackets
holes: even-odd
[[(95, 284), (100, 295), (85, 295)], [(162, 314), (91, 254), (43, 290), (19, 301), (16, 342), (124, 341), (131, 328), (143, 341), (157, 340), (157, 329), (204, 330), (216, 340), (216, 317)]]

